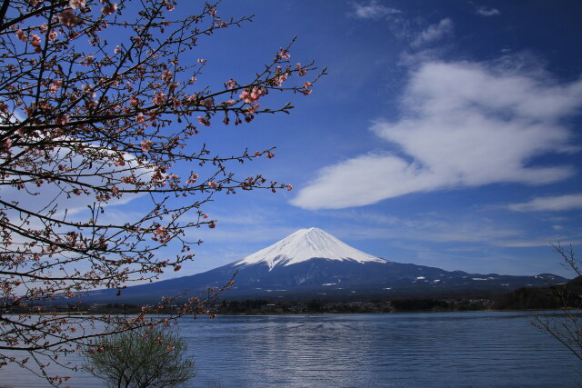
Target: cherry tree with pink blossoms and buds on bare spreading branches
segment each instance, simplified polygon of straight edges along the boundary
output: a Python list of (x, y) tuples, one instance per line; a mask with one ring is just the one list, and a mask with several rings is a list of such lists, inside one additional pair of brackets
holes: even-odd
[[(233, 174), (233, 164), (271, 158), (273, 149), (219, 155), (196, 134), (288, 113), (291, 104), (269, 104), (268, 95), (309, 95), (323, 74), (292, 63), (288, 45), (247, 79), (204, 85), (213, 64), (196, 57), (196, 46), (250, 17), (221, 18), (216, 4), (193, 14), (184, 10), (191, 2), (116, 1), (0, 6), (0, 363), (40, 366), (55, 384), (64, 378), (45, 366), (59, 355), (156, 324), (146, 314), (172, 299), (131, 318), (41, 313), (41, 303), (99, 288), (123, 293), (178, 271), (200, 244), (187, 232), (216, 226), (203, 205), (219, 192), (290, 190)], [(141, 201), (139, 214), (112, 214), (113, 204), (132, 200)], [(159, 253), (168, 246), (176, 254)], [(204, 307), (190, 298), (164, 323)], [(90, 330), (97, 321), (111, 329)]]

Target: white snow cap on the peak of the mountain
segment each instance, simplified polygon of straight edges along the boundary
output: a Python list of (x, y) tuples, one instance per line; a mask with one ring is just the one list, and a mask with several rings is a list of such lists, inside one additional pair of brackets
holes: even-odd
[(309, 228), (299, 229), (278, 243), (246, 256), (236, 265), (266, 263), (271, 269), (278, 264), (291, 265), (313, 258), (386, 263), (383, 259), (352, 248), (321, 229)]

